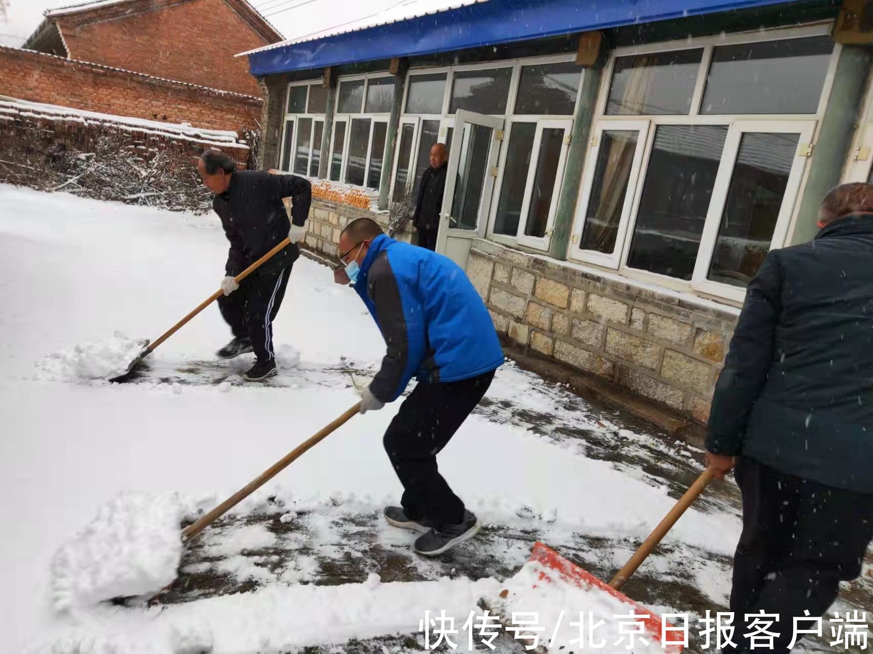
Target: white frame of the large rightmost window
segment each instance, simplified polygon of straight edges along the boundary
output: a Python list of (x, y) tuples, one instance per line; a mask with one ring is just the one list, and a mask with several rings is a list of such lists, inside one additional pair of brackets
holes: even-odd
[[(830, 34), (833, 23), (830, 21), (821, 22), (817, 24), (805, 25), (796, 28), (787, 28), (773, 31), (750, 31), (750, 32), (742, 32), (735, 34), (722, 34), (717, 37), (697, 37), (691, 39), (684, 39), (681, 41), (668, 41), (654, 44), (644, 44), (637, 46), (630, 46), (625, 48), (617, 48), (614, 52), (611, 53), (608, 61), (608, 65), (604, 68), (603, 75), (601, 77), (601, 85), (598, 90), (598, 100), (596, 103), (596, 112), (595, 119), (593, 120), (593, 132), (599, 133), (600, 124), (602, 122), (608, 121), (611, 129), (621, 129), (622, 123), (639, 123), (641, 121), (646, 121), (649, 123), (648, 135), (645, 140), (645, 149), (643, 151), (643, 159), (640, 160), (640, 166), (638, 168), (637, 174), (638, 178), (636, 180), (636, 187), (634, 189), (635, 193), (633, 196), (633, 203), (631, 205), (629, 219), (627, 221), (626, 227), (620, 236), (622, 236), (623, 241), (619, 242), (616, 240), (616, 249), (620, 250), (621, 255), (618, 258), (618, 261), (604, 261), (602, 255), (597, 256), (597, 253), (591, 253), (588, 251), (582, 251), (578, 248), (579, 235), (581, 235), (582, 223), (585, 219), (585, 213), (588, 208), (588, 195), (591, 192), (591, 183), (593, 181), (593, 171), (589, 171), (589, 168), (594, 165), (595, 160), (591, 159), (590, 156), (587, 156), (586, 159), (586, 167), (583, 171), (583, 180), (580, 187), (580, 193), (578, 196), (578, 200), (576, 203), (576, 213), (574, 216), (573, 222), (573, 230), (571, 235), (574, 238), (571, 238), (571, 242), (568, 243), (567, 246), (567, 258), (573, 262), (582, 262), (582, 263), (592, 263), (597, 266), (602, 266), (604, 268), (618, 269), (623, 276), (627, 276), (629, 278), (638, 279), (643, 282), (656, 283), (660, 286), (667, 287), (675, 290), (696, 290), (705, 295), (711, 295), (716, 297), (723, 297), (732, 300), (736, 300), (741, 302), (742, 299), (746, 295), (745, 289), (740, 289), (739, 287), (734, 287), (729, 284), (722, 283), (711, 283), (708, 280), (702, 281), (699, 279), (699, 275), (697, 273), (698, 267), (701, 266), (701, 253), (705, 250), (703, 249), (704, 241), (703, 237), (701, 238), (701, 248), (698, 249), (698, 260), (695, 262), (695, 276), (692, 277), (691, 282), (677, 279), (676, 277), (661, 275), (654, 272), (649, 272), (643, 269), (634, 269), (630, 268), (627, 265), (630, 243), (633, 240), (634, 228), (636, 227), (636, 218), (639, 210), (639, 201), (641, 195), (643, 193), (643, 188), (645, 187), (645, 176), (648, 172), (649, 166), (649, 158), (652, 150), (652, 146), (654, 143), (655, 133), (657, 126), (660, 125), (721, 125), (727, 126), (728, 132), (731, 132), (731, 126), (735, 123), (742, 124), (750, 124), (750, 123), (764, 123), (766, 124), (766, 129), (768, 129), (771, 133), (779, 133), (780, 125), (787, 124), (799, 124), (799, 123), (811, 123), (813, 125), (812, 132), (810, 134), (808, 141), (801, 140), (802, 145), (813, 145), (815, 143), (815, 139), (818, 137), (818, 133), (821, 130), (821, 118), (825, 112), (825, 108), (828, 106), (828, 99), (830, 98), (830, 93), (834, 84), (834, 77), (836, 72), (836, 66), (839, 63), (840, 54), (842, 51), (842, 46), (840, 44), (834, 44), (834, 51), (831, 53), (830, 61), (828, 63), (828, 71), (824, 78), (824, 83), (821, 88), (821, 97), (819, 99), (819, 105), (815, 113), (795, 113), (795, 114), (702, 114), (700, 113), (700, 107), (703, 102), (704, 92), (705, 92), (705, 82), (706, 75), (709, 72), (709, 67), (711, 64), (712, 52), (713, 50), (720, 45), (731, 45), (731, 44), (746, 44), (746, 43), (761, 43), (761, 42), (769, 42), (769, 41), (780, 41), (792, 38), (804, 38), (804, 37), (816, 37), (816, 36), (827, 36)], [(606, 113), (606, 106), (608, 101), (608, 93), (609, 89), (612, 85), (612, 77), (613, 70), (615, 67), (615, 59), (640, 55), (640, 54), (650, 54), (655, 52), (670, 52), (670, 51), (683, 51), (683, 50), (703, 50), (700, 65), (698, 68), (698, 77), (694, 87), (694, 92), (691, 98), (691, 108), (687, 114), (678, 114), (678, 115), (613, 115)], [(761, 131), (761, 130), (760, 130)], [(804, 133), (808, 133), (806, 130)], [(722, 151), (722, 160), (719, 164), (719, 172), (718, 174), (722, 174), (722, 169), (725, 168), (725, 155), (728, 151), (728, 143), (725, 139), (725, 149)], [(735, 153), (732, 155), (735, 159)], [(796, 189), (794, 191), (794, 197), (791, 201), (787, 201), (789, 196), (790, 188), (786, 188), (785, 198), (783, 199), (782, 210), (780, 211), (779, 221), (778, 221), (778, 229), (777, 232), (773, 235), (773, 241), (771, 242), (771, 249), (780, 248), (785, 245), (787, 239), (790, 237), (790, 233), (794, 228), (794, 221), (796, 221), (797, 210), (799, 207), (799, 202), (797, 202), (797, 197), (800, 195), (801, 188), (803, 182), (806, 179), (808, 174), (808, 165), (807, 158), (803, 157), (801, 163), (798, 165), (795, 161), (795, 166), (792, 167), (791, 179), (789, 180), (790, 184), (796, 183)], [(636, 160), (635, 160), (636, 165)], [(800, 171), (797, 172), (797, 168), (800, 167)], [(725, 172), (726, 183), (729, 183), (730, 176), (732, 174), (732, 167)], [(718, 182), (718, 180), (717, 180)], [(724, 189), (726, 193), (726, 188)], [(715, 194), (716, 189), (713, 189), (713, 196), (710, 201), (710, 207), (707, 213), (707, 219), (705, 223), (709, 224), (709, 215), (714, 211), (715, 207)], [(627, 198), (626, 198), (627, 201)], [(720, 220), (721, 212), (719, 210), (718, 216)], [(714, 228), (715, 233), (718, 233), (718, 224)], [(777, 240), (777, 236), (780, 238)], [(714, 245), (714, 237), (711, 243), (708, 243), (710, 247)], [(708, 268), (709, 261), (711, 260), (711, 251), (706, 254), (707, 262), (706, 266)], [(705, 273), (704, 273), (705, 275)]]

